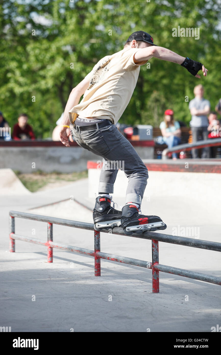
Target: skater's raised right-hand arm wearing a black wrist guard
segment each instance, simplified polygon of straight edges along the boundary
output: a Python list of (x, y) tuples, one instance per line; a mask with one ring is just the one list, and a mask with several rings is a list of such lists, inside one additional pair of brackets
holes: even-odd
[(194, 60), (189, 59), (188, 57), (182, 57), (181, 55), (173, 52), (170, 49), (164, 48), (164, 47), (158, 47), (158, 46), (150, 46), (150, 47), (145, 47), (140, 50), (138, 50), (134, 54), (134, 59), (136, 61), (147, 61), (150, 58), (158, 58), (162, 60), (166, 60), (168, 62), (173, 62), (180, 64), (186, 69), (193, 74), (195, 77), (200, 78), (200, 75), (197, 74), (199, 70), (203, 71), (203, 75), (206, 76), (208, 70), (204, 67), (203, 64), (196, 62)]

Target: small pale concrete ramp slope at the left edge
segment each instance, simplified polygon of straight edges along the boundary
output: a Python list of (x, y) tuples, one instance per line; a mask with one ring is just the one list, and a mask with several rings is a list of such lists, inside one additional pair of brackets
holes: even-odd
[(0, 181), (0, 196), (31, 194), (11, 169), (0, 169)]

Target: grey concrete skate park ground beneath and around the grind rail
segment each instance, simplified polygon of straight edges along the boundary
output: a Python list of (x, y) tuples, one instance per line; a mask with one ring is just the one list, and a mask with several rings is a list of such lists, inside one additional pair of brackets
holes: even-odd
[[(50, 205), (73, 196), (93, 208), (87, 187), (84, 179), (59, 189), (1, 196), (0, 326), (11, 326), (12, 332), (211, 332), (221, 325), (218, 285), (160, 272), (160, 293), (153, 294), (149, 269), (101, 260), (101, 277), (94, 277), (90, 256), (54, 249), (54, 262), (47, 263), (46, 247), (23, 241), (15, 241), (16, 252), (9, 253), (10, 210), (92, 223), (92, 213), (76, 202)], [(142, 212), (164, 220), (162, 233), (187, 234), (194, 227), (186, 236), (221, 242), (216, 203), (211, 210), (199, 196), (157, 196), (143, 199)], [(17, 234), (46, 240), (46, 223), (16, 218), (15, 226)], [(54, 241), (93, 249), (92, 231), (53, 228)], [(151, 261), (151, 241), (129, 236), (101, 233), (101, 251)], [(159, 260), (221, 276), (219, 252), (159, 242)]]

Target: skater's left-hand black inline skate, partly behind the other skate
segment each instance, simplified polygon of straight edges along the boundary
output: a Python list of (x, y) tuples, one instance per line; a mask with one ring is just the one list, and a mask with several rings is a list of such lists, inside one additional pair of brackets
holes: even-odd
[(98, 196), (93, 211), (94, 229), (113, 229), (121, 225), (121, 211), (111, 207), (110, 197)]

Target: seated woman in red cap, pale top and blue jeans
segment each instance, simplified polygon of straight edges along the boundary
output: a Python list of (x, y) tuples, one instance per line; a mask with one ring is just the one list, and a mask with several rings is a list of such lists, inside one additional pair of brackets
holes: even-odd
[[(173, 110), (165, 111), (164, 121), (161, 122), (160, 129), (168, 148), (178, 146), (181, 143), (181, 129), (179, 122), (173, 119)], [(172, 159), (177, 159), (177, 153), (172, 153)]]

